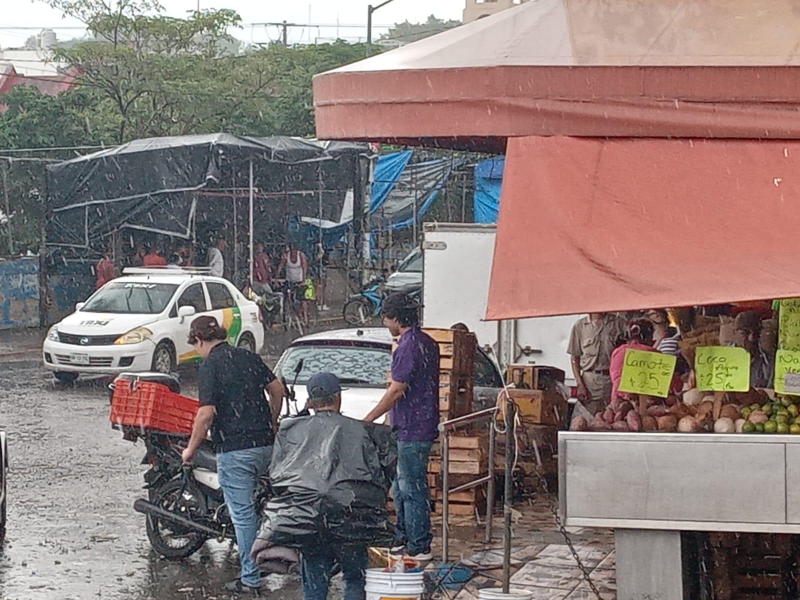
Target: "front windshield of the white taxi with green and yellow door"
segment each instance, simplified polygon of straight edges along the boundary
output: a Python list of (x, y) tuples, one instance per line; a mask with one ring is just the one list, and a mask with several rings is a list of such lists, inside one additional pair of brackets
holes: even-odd
[(111, 282), (95, 292), (81, 312), (158, 314), (177, 289), (171, 283)]

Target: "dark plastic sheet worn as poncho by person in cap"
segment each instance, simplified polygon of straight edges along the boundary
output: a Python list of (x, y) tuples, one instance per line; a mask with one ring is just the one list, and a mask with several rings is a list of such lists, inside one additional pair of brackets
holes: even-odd
[(387, 426), (332, 411), (284, 419), (258, 538), (298, 548), (389, 543), (386, 499), (396, 465), (397, 442)]

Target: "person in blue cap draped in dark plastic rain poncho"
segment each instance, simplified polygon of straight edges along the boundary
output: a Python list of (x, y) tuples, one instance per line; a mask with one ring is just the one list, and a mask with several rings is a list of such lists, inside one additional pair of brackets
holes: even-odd
[(281, 422), (270, 464), (274, 496), (253, 554), (270, 545), (299, 548), (304, 600), (327, 597), (338, 564), (345, 600), (362, 600), (367, 546), (393, 537), (386, 497), (397, 442), (389, 427), (339, 413), (342, 387), (334, 374), (315, 374), (306, 387), (314, 415)]

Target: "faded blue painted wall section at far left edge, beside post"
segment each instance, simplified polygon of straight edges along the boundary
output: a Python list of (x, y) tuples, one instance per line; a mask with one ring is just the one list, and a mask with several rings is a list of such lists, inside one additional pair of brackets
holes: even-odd
[(0, 258), (0, 330), (38, 327), (39, 258)]

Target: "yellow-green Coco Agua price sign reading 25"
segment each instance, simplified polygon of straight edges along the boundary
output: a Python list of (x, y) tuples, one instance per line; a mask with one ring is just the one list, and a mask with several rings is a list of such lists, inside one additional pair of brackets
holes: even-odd
[(750, 390), (750, 353), (733, 346), (698, 346), (694, 375), (701, 391), (746, 392)]

